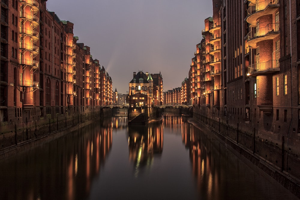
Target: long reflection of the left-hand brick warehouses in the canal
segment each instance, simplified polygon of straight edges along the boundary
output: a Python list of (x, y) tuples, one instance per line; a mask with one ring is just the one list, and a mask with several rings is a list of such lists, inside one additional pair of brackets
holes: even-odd
[(106, 119), (1, 160), (1, 199), (86, 199), (123, 123)]

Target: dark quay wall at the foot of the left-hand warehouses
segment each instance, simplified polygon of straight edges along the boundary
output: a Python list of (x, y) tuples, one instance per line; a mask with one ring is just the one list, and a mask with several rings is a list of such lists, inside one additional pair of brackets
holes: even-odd
[(101, 108), (55, 117), (46, 115), (39, 120), (26, 118), (25, 123), (1, 124), (0, 159), (42, 145), (80, 127), (111, 116), (112, 109)]

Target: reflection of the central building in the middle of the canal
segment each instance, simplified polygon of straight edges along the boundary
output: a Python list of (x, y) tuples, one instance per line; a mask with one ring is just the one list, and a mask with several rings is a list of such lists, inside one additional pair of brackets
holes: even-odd
[(163, 142), (161, 122), (146, 126), (128, 126), (129, 160), (134, 162), (135, 177), (139, 176), (142, 168), (152, 166), (155, 155), (161, 156)]

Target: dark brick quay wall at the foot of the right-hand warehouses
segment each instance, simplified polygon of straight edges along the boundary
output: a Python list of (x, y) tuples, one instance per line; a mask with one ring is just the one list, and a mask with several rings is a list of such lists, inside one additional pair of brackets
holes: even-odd
[[(249, 128), (251, 125), (247, 123), (230, 124), (226, 118), (205, 115), (199, 109), (193, 109), (193, 118), (205, 124), (228, 147), (247, 158), (300, 198), (300, 174), (298, 171), (289, 171), (291, 168), (297, 168), (300, 160), (296, 154), (284, 148), (286, 143), (284, 137), (276, 138), (278, 136), (275, 133), (264, 133), (262, 130), (254, 129), (253, 132), (252, 127)], [(264, 134), (282, 143), (261, 139)]]

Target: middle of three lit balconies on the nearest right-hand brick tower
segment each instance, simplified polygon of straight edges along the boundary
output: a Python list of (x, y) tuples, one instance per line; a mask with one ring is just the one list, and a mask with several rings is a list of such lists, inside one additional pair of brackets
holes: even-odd
[(279, 23), (269, 23), (265, 27), (255, 29), (248, 33), (247, 44), (251, 48), (256, 48), (256, 43), (263, 40), (272, 40), (280, 34)]

